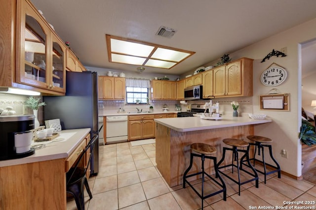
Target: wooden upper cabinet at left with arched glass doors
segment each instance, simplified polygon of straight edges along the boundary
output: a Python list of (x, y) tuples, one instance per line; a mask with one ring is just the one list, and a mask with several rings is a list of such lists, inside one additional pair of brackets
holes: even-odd
[[(30, 0), (0, 8), (0, 87), (64, 95), (68, 47)], [(82, 64), (78, 62), (78, 68)]]

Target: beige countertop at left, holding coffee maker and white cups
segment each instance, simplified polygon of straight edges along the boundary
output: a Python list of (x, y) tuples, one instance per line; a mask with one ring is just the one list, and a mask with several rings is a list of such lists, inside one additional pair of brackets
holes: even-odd
[(62, 130), (58, 132), (59, 136), (52, 142), (32, 143), (32, 146), (46, 144), (45, 147), (36, 149), (35, 154), (24, 158), (2, 160), (0, 161), (0, 167), (67, 158), (89, 132), (90, 128)]

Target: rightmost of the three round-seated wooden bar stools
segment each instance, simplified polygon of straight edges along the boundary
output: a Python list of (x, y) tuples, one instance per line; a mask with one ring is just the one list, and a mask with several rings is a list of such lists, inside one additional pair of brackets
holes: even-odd
[[(281, 178), (280, 165), (276, 162), (276, 159), (273, 157), (272, 146), (269, 144), (269, 143), (272, 143), (273, 141), (271, 139), (269, 139), (267, 137), (263, 137), (263, 136), (247, 136), (247, 139), (249, 139), (249, 140), (254, 142), (254, 143), (249, 143), (249, 145), (254, 145), (255, 146), (255, 152), (254, 152), (253, 158), (250, 158), (250, 160), (253, 160), (253, 166), (254, 167), (255, 167), (255, 162), (256, 161), (261, 162), (263, 164), (264, 172), (259, 171), (258, 169), (256, 169), (256, 171), (261, 173), (261, 174), (263, 174), (263, 175), (265, 175), (265, 183), (266, 183), (266, 180), (267, 180), (267, 175), (269, 175), (269, 174), (273, 174), (273, 173), (277, 172), (277, 178)], [(264, 143), (264, 144), (262, 144), (262, 143)], [(265, 162), (265, 157), (264, 157), (264, 148), (265, 147), (269, 148), (270, 157), (275, 162), (276, 166), (268, 164), (268, 163)], [(258, 155), (259, 156), (260, 156), (260, 150), (261, 150), (262, 161), (256, 159), (257, 148), (258, 148)], [(242, 164), (244, 164), (243, 162), (244, 161), (242, 161)], [(244, 164), (244, 165), (246, 165), (246, 164)], [(270, 166), (271, 168), (273, 168), (275, 170), (267, 172), (266, 165)], [(248, 166), (248, 165), (246, 165), (246, 166)], [(240, 167), (242, 167), (242, 165), (240, 165)]]

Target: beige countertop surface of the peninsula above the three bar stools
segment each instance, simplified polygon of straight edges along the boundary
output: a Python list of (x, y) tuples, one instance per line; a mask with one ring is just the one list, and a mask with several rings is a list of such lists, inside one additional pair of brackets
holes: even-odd
[(271, 119), (253, 120), (249, 117), (222, 116), (221, 120), (203, 120), (199, 116), (186, 118), (155, 119), (155, 122), (179, 132), (233, 127), (240, 125), (262, 124), (272, 122)]

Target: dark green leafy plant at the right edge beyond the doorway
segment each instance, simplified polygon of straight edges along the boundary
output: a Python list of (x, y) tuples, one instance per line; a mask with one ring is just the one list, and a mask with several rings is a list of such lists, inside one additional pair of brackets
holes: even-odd
[(303, 144), (306, 144), (308, 146), (315, 145), (316, 133), (314, 125), (309, 121), (302, 119), (302, 126), (299, 138), (301, 139)]

